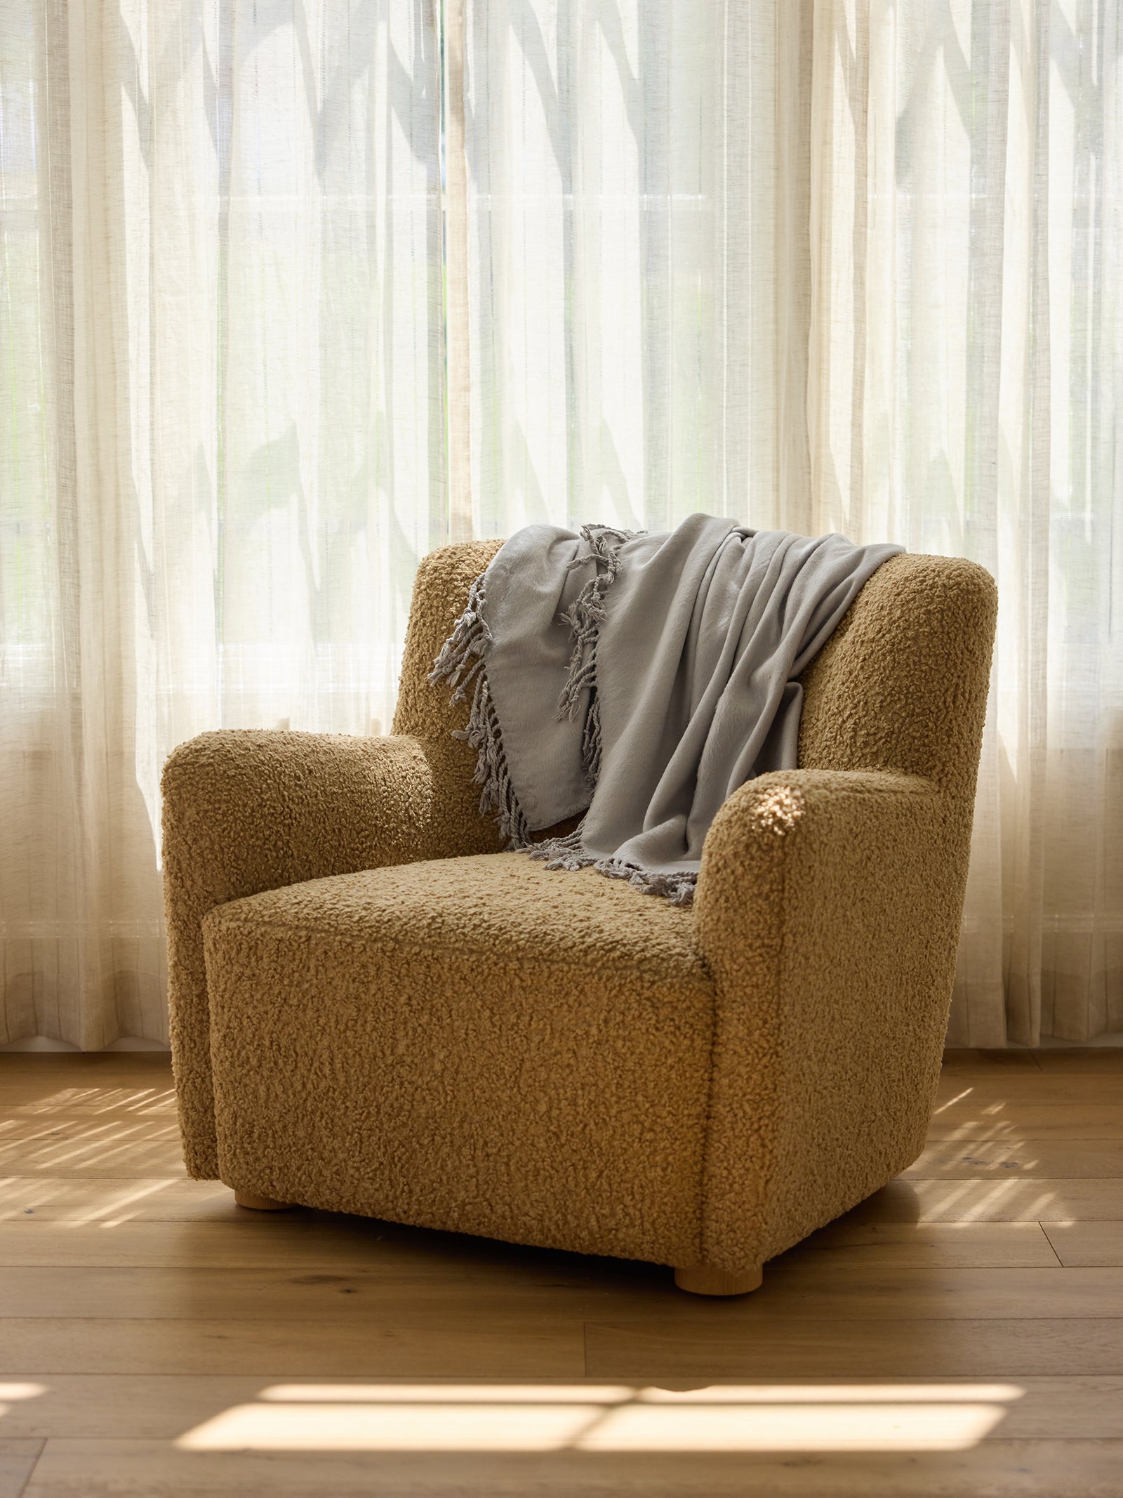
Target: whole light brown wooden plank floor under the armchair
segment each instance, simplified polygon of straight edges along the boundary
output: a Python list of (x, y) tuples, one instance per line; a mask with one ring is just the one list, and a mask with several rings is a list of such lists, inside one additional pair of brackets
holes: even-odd
[(1123, 1495), (1123, 1052), (951, 1053), (741, 1300), (180, 1165), (151, 1055), (0, 1056), (0, 1498)]

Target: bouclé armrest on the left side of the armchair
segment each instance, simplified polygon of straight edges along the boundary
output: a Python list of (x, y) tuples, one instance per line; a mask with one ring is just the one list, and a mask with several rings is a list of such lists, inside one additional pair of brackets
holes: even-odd
[(168, 759), (168, 989), (192, 1176), (217, 1176), (204, 915), (305, 879), (491, 851), (494, 828), (475, 815), (472, 791), (470, 752), (454, 740), (228, 731)]

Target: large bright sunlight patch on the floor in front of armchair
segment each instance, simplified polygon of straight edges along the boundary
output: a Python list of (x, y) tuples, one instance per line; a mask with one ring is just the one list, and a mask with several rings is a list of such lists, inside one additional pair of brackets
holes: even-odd
[(190, 1452), (955, 1452), (1017, 1384), (280, 1384), (186, 1432)]

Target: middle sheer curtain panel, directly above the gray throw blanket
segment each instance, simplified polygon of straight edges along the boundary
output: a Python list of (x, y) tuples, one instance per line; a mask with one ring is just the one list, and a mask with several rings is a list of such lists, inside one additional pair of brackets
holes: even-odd
[(469, 0), (472, 493), (812, 521), (800, 6)]

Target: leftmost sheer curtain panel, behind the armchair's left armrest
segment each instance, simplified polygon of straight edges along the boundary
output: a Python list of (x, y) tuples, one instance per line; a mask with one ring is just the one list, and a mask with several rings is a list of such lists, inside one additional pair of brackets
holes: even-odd
[(0, 1041), (166, 1038), (159, 771), (379, 731), (446, 538), (428, 0), (1, 0)]

